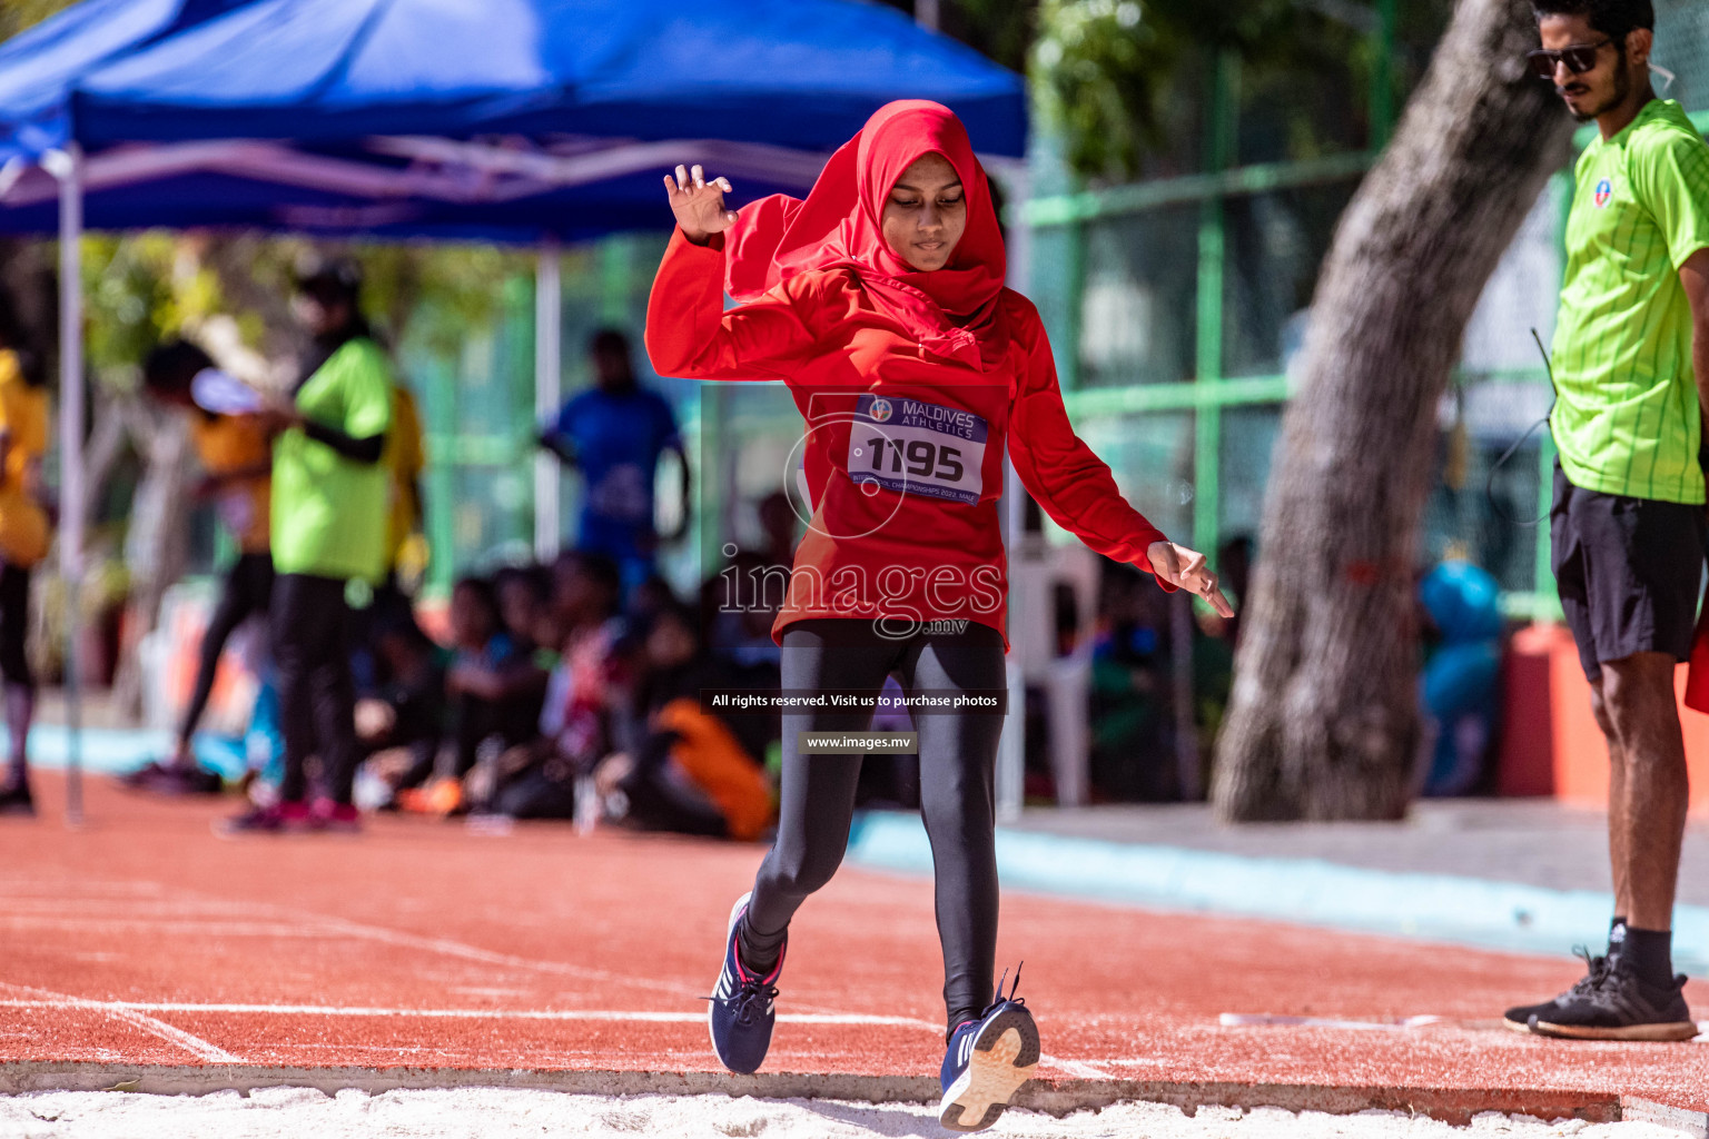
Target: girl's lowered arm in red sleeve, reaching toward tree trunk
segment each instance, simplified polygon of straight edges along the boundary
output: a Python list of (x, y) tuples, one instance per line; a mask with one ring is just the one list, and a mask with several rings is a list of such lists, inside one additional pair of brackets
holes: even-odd
[(1008, 429), (1008, 456), (1020, 482), (1058, 526), (1092, 550), (1150, 570), (1159, 581), (1205, 598), (1224, 616), (1234, 616), (1205, 555), (1164, 538), (1121, 497), (1109, 466), (1073, 432), (1049, 340), (1042, 328), (1031, 331), (1029, 367)]

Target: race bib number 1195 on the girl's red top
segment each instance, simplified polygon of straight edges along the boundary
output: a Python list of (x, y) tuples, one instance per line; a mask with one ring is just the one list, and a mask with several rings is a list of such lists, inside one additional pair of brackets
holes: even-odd
[(972, 412), (868, 393), (849, 425), (849, 478), (971, 505), (984, 490), (984, 439)]

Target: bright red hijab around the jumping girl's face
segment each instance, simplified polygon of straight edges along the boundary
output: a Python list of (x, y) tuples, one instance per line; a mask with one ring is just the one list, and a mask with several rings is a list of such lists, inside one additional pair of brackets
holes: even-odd
[[(967, 229), (948, 265), (909, 266), (884, 242), (884, 203), (902, 172), (942, 154), (960, 176)], [(984, 369), (1008, 347), (998, 318), (1007, 258), (991, 188), (955, 114), (925, 99), (878, 108), (831, 155), (807, 200), (774, 195), (743, 207), (725, 232), (725, 287), (750, 301), (796, 273), (853, 268), (885, 314), (926, 350)]]

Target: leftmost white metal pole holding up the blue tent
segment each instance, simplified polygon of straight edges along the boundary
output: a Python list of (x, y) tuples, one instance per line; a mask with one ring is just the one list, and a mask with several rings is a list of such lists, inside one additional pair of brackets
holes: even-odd
[(84, 820), (84, 157), (72, 142), (44, 155), (60, 183), (60, 574), (65, 581), (65, 821)]

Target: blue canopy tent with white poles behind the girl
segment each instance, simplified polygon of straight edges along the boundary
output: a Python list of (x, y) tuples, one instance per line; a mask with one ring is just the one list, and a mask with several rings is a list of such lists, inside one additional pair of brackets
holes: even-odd
[[(660, 225), (660, 174), (682, 161), (740, 198), (800, 191), (899, 97), (948, 104), (984, 155), (1024, 154), (1020, 77), (865, 0), (84, 0), (0, 44), (0, 232), (62, 239), (70, 587), (85, 220), (550, 251)], [(552, 408), (555, 256), (538, 285), (537, 405)], [(549, 541), (555, 475), (540, 488)]]

